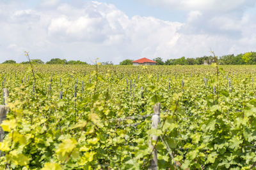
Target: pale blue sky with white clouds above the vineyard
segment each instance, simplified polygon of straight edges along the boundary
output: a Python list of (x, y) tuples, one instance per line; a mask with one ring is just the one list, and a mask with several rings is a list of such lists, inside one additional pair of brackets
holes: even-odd
[(0, 0), (0, 62), (256, 51), (256, 0)]

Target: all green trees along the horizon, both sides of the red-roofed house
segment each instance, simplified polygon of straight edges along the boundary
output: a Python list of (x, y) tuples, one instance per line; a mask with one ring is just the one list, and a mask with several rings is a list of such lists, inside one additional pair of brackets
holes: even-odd
[[(214, 56), (204, 56), (204, 57), (196, 57), (196, 58), (186, 58), (180, 57), (179, 59), (167, 59), (163, 60), (161, 57), (156, 57), (153, 59), (157, 62), (157, 65), (202, 65), (206, 61), (207, 63), (211, 63), (214, 60)], [(243, 65), (243, 64), (256, 64), (256, 52), (246, 52), (240, 53), (238, 55), (228, 54), (223, 55), (221, 57), (217, 57), (218, 64), (221, 65)], [(47, 62), (43, 62), (40, 59), (32, 59), (31, 62), (33, 64), (88, 64), (87, 62), (83, 62), (80, 60), (66, 60), (54, 58)], [(15, 60), (6, 60), (3, 64), (15, 64)], [(29, 64), (29, 61), (20, 62), (20, 64)], [(102, 62), (102, 65), (113, 65), (113, 62), (107, 61)], [(120, 65), (132, 65), (131, 59), (123, 60), (119, 63)]]

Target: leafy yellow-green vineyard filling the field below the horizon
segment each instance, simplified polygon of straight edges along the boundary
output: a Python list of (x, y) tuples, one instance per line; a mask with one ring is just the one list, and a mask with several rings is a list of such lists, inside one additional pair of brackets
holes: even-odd
[(0, 169), (156, 169), (154, 153), (158, 169), (256, 169), (255, 66), (0, 64), (0, 76)]

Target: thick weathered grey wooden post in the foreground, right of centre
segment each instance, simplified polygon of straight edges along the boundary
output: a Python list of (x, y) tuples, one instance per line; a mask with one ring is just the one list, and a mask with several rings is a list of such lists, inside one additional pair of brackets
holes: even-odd
[[(160, 108), (161, 108), (160, 103), (156, 103), (154, 105), (154, 115), (152, 116), (152, 127), (151, 127), (152, 129), (157, 129), (157, 126), (160, 122)], [(155, 136), (155, 135), (152, 136), (152, 140), (155, 142), (157, 141), (157, 138), (158, 136)], [(153, 159), (150, 161), (149, 169), (157, 170), (157, 149), (155, 146), (152, 145), (151, 140), (149, 141), (149, 146), (153, 150), (152, 152)]]

